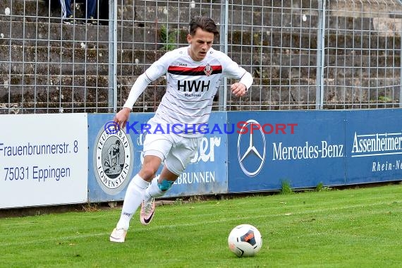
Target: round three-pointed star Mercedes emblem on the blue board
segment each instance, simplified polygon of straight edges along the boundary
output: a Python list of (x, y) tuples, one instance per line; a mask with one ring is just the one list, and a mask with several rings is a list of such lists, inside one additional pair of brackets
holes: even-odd
[[(238, 135), (238, 140), (237, 140), (237, 157), (238, 157), (238, 164), (240, 164), (240, 168), (241, 170), (243, 170), (243, 172), (250, 177), (256, 176), (258, 173), (260, 173), (262, 166), (264, 165), (265, 162), (265, 135), (264, 132), (262, 131), (262, 128), (252, 128), (252, 125), (258, 125), (261, 126), (260, 123), (258, 123), (257, 121), (250, 119), (248, 121), (245, 122), (245, 124), (242, 127), (242, 130), (246, 130), (247, 128), (247, 132), (246, 131), (242, 131), (242, 133), (244, 134), (239, 134)], [(260, 131), (257, 131), (260, 130)], [(258, 145), (258, 149), (255, 147), (255, 137), (253, 137), (253, 135), (255, 135), (257, 133), (258, 138), (262, 141), (260, 143), (262, 143), (262, 145)], [(244, 151), (241, 148), (241, 144), (242, 144), (242, 140), (246, 140), (246, 138), (249, 138), (248, 140), (248, 147), (247, 149)], [(247, 142), (247, 141), (246, 141)], [(244, 146), (243, 146), (244, 147)], [(257, 164), (255, 166), (257, 166), (257, 169), (255, 169), (255, 166), (248, 166), (248, 164), (245, 164), (245, 160), (252, 157), (252, 155), (255, 156), (255, 161), (257, 161)], [(258, 162), (260, 164), (258, 164)], [(246, 166), (248, 166), (248, 168), (246, 168)]]

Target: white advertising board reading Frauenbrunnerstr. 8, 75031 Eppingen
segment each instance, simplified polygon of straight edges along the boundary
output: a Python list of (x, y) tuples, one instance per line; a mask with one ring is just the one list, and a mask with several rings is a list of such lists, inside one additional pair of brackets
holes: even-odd
[(0, 208), (87, 202), (87, 114), (0, 115), (0, 127)]

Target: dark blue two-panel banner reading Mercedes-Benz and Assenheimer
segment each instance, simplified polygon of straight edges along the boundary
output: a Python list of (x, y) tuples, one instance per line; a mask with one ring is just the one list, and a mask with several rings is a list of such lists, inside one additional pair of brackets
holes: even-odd
[(229, 113), (239, 126), (228, 137), (229, 193), (279, 190), (284, 181), (292, 188), (401, 181), (401, 116), (401, 109)]

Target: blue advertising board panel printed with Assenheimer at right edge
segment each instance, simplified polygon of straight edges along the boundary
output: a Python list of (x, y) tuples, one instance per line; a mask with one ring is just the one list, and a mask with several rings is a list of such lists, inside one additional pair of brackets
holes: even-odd
[(401, 181), (402, 110), (345, 111), (346, 184)]

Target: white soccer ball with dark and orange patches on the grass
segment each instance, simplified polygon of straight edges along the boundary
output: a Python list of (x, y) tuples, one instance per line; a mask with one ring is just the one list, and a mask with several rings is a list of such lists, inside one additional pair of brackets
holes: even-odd
[(250, 224), (240, 224), (232, 229), (228, 238), (229, 249), (237, 257), (250, 257), (262, 247), (260, 231)]

